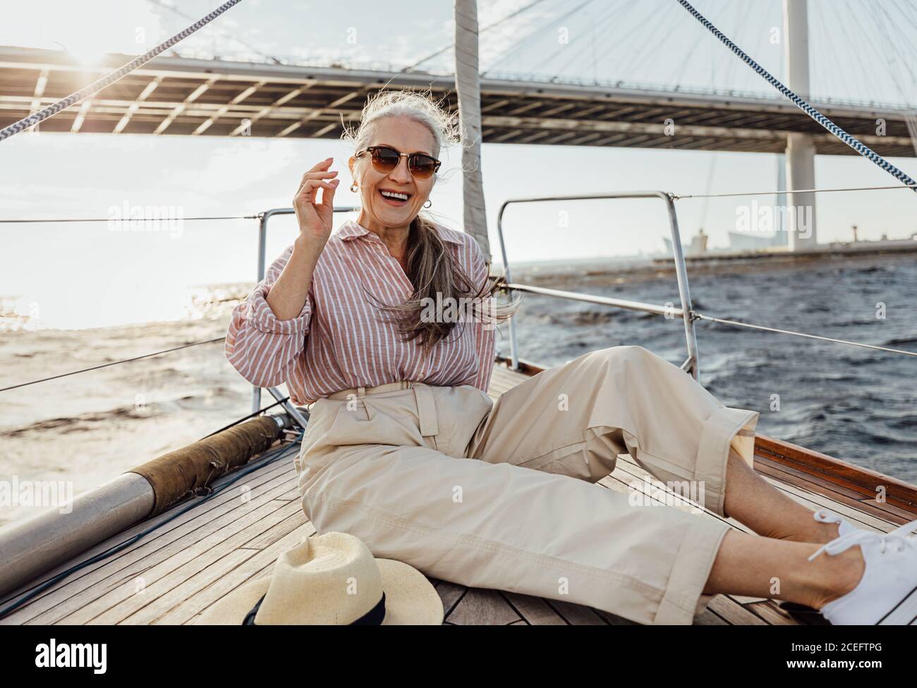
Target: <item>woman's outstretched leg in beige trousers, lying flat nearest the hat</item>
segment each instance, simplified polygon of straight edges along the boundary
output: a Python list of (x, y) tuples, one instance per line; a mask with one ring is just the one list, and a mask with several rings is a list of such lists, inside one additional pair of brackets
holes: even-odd
[[(719, 592), (806, 605), (844, 594), (846, 583), (826, 563), (840, 558), (805, 562), (804, 570), (801, 558), (814, 545), (735, 534), (722, 520), (635, 504), (584, 480), (433, 449), (464, 445), (478, 424), (467, 412), (481, 397), (461, 389), (436, 389), (422, 405), (403, 394), (314, 412), (297, 469), (305, 515), (318, 531), (348, 532), (376, 556), (443, 580), (645, 624), (690, 624)], [(370, 440), (384, 444), (361, 443)]]

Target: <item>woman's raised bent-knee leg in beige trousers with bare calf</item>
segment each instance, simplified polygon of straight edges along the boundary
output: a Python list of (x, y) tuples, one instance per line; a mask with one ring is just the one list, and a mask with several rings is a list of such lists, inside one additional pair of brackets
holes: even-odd
[(704, 495), (703, 505), (758, 535), (816, 543), (836, 538), (836, 524), (816, 521), (811, 509), (754, 471), (756, 423), (757, 413), (725, 407), (650, 351), (613, 347), (504, 393), (470, 456), (594, 483), (614, 470), (617, 454), (629, 452), (658, 480), (691, 483), (692, 494)]

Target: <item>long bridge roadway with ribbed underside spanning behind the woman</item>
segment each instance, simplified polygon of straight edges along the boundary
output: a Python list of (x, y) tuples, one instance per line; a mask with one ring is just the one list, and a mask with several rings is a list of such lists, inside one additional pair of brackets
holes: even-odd
[[(0, 128), (71, 94), (133, 56), (87, 66), (61, 50), (0, 47)], [(393, 68), (260, 64), (160, 56), (40, 125), (41, 131), (337, 139), (366, 97), (429, 87), (454, 102), (448, 75)], [(910, 156), (911, 108), (813, 101), (883, 156)], [(481, 78), (485, 143), (783, 152), (791, 133), (820, 154), (856, 154), (779, 94), (638, 83)]]

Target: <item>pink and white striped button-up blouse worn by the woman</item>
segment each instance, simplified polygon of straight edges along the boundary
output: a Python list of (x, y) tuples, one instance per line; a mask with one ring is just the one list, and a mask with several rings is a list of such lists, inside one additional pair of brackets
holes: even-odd
[[(481, 248), (464, 232), (436, 226), (447, 249), (481, 286), (487, 277)], [(378, 235), (348, 220), (328, 239), (299, 316), (279, 320), (265, 300), (293, 253), (291, 245), (232, 312), (226, 358), (250, 383), (287, 384), (293, 404), (351, 387), (411, 380), (486, 392), (494, 357), (494, 330), (486, 318), (458, 322), (428, 355), (404, 342), (393, 322), (360, 287), (387, 304), (401, 304), (414, 289)], [(384, 316), (384, 314), (383, 314)], [(392, 319), (390, 316), (384, 316)]]

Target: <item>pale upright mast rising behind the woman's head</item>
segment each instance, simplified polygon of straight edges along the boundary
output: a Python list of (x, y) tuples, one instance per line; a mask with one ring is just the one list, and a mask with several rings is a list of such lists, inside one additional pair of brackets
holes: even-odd
[(462, 136), (462, 200), (465, 231), (477, 239), (491, 264), (484, 183), (481, 178), (481, 73), (478, 69), (478, 4), (455, 0), (456, 93)]

